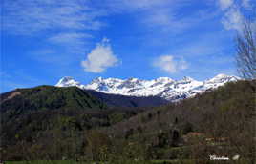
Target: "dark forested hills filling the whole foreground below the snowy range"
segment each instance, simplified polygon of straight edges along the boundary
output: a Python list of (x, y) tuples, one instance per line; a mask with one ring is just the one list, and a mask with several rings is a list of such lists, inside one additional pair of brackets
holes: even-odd
[(1, 94), (2, 160), (193, 160), (254, 163), (256, 81), (158, 107), (114, 107), (75, 87)]

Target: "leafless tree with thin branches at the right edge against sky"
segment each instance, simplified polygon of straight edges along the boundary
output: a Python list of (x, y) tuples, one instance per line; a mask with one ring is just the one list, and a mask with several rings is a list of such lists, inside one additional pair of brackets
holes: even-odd
[(256, 79), (256, 23), (245, 21), (236, 39), (236, 64), (245, 79)]

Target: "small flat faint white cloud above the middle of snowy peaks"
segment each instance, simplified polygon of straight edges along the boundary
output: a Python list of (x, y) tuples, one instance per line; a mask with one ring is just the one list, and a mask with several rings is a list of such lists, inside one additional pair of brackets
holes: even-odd
[(153, 66), (168, 73), (180, 72), (181, 70), (188, 68), (188, 64), (185, 60), (182, 58), (175, 58), (172, 55), (161, 55), (153, 62)]

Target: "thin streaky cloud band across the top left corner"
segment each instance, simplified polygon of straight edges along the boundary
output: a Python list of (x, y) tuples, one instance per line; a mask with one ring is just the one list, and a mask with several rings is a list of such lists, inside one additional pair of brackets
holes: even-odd
[(5, 1), (3, 29), (16, 34), (33, 34), (48, 30), (96, 30), (103, 12), (89, 8), (85, 2), (70, 0)]

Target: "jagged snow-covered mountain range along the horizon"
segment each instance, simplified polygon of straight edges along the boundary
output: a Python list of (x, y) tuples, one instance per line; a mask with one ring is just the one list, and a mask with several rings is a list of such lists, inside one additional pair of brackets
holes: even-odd
[(160, 77), (153, 80), (139, 80), (138, 78), (118, 79), (102, 78), (94, 79), (90, 84), (82, 85), (72, 77), (63, 77), (55, 85), (57, 87), (76, 86), (83, 90), (95, 90), (112, 94), (130, 96), (160, 96), (170, 101), (177, 101), (191, 97), (200, 92), (215, 89), (224, 85), (226, 82), (237, 81), (240, 78), (225, 74), (197, 81), (191, 77), (183, 77), (181, 80), (173, 80), (169, 77)]

